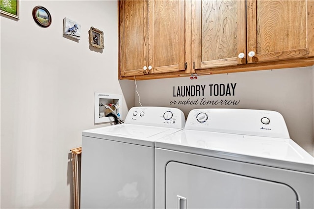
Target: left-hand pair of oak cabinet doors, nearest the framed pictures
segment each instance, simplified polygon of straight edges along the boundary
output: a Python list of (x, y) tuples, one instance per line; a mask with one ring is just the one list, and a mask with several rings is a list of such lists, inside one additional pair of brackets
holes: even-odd
[(119, 0), (118, 5), (119, 77), (185, 73), (185, 1)]

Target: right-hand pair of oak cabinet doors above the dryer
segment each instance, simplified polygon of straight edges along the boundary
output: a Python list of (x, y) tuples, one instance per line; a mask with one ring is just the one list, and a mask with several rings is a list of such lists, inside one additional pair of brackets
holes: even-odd
[[(313, 0), (195, 0), (193, 3), (192, 57), (196, 72), (314, 56)], [(228, 69), (232, 72), (232, 68)]]

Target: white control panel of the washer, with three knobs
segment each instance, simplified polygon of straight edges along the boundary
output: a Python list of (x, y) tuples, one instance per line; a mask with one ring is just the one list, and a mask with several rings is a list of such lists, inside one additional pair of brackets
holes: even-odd
[(178, 108), (139, 106), (129, 110), (125, 123), (183, 129), (185, 116)]

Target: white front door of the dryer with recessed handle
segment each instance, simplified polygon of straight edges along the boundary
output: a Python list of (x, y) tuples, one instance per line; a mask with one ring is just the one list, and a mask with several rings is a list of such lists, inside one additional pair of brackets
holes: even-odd
[(166, 208), (295, 209), (297, 196), (283, 183), (169, 162)]

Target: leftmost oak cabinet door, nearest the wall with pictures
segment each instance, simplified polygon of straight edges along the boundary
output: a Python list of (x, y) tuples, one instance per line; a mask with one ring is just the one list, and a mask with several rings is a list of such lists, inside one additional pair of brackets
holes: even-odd
[(148, 2), (119, 0), (120, 77), (144, 75), (148, 62)]

